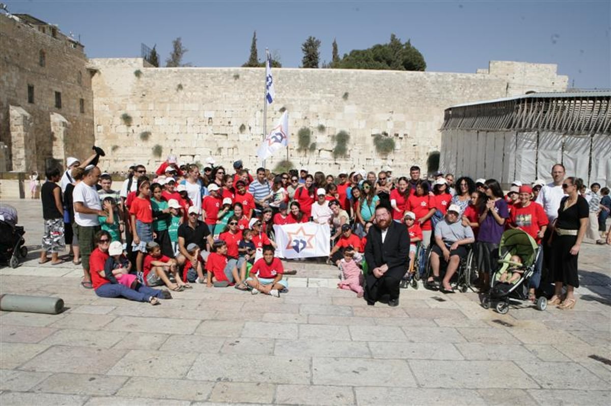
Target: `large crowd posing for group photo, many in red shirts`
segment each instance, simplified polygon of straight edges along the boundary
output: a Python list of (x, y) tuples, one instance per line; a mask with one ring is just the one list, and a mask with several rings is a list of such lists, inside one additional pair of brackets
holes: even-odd
[(430, 246), (433, 272), (426, 283), (444, 293), (453, 292), (450, 279), (466, 246), (473, 246), (485, 291), (503, 231), (519, 228), (544, 251), (529, 299), (535, 299), (541, 269), (549, 269), (551, 303), (572, 308), (584, 237), (611, 243), (609, 188), (594, 183), (584, 190), (561, 164), (552, 168), (552, 183), (516, 180), (505, 194), (494, 179), (455, 181), (441, 172), (425, 179), (418, 166), (400, 177), (390, 168), (337, 177), (263, 167), (251, 174), (240, 160), (229, 173), (212, 159), (200, 168), (179, 165), (170, 155), (154, 173), (130, 166), (120, 188), (113, 188), (97, 165), (104, 152), (93, 150), (84, 161), (68, 158), (63, 174), (46, 171), (40, 263), (62, 263), (59, 254), (69, 245), (73, 263), (83, 269), (82, 287), (103, 297), (158, 304), (191, 283), (279, 297), (288, 291), (284, 275), (291, 271), (274, 256), (273, 226), (312, 221), (331, 227), (328, 262), (341, 269), (338, 287), (368, 304), (398, 304), (398, 283), (413, 267), (416, 244)]

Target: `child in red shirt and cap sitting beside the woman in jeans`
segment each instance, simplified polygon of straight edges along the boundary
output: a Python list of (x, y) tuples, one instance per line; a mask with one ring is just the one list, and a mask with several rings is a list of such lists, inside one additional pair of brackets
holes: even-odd
[[(147, 256), (144, 258), (144, 265), (142, 266), (144, 271), (142, 272), (142, 280), (148, 287), (166, 285), (169, 290), (180, 292), (185, 288), (191, 288), (189, 283), (183, 282), (178, 275), (178, 262), (174, 258), (166, 257), (161, 254), (161, 247), (155, 241), (147, 243)], [(170, 272), (176, 283), (167, 277), (167, 273)]]

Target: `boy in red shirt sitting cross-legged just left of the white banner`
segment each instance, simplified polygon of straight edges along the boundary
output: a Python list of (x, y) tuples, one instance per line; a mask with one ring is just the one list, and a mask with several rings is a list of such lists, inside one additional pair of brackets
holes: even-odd
[(279, 258), (274, 257), (274, 247), (263, 246), (263, 258), (255, 262), (246, 283), (252, 288), (251, 293), (259, 292), (280, 297), (280, 291), (288, 290), (288, 282), (282, 279), (284, 267)]

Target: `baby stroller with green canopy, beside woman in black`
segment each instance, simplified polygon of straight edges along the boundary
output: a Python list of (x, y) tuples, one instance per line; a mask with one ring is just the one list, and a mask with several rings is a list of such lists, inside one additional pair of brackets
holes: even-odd
[[(496, 311), (504, 315), (509, 312), (510, 299), (526, 302), (529, 297), (528, 280), (535, 272), (537, 258), (541, 255), (541, 250), (536, 241), (522, 230), (507, 230), (503, 233), (499, 244), (499, 264), (494, 275), (490, 277), (491, 289), (481, 299), (484, 308), (490, 308), (495, 304)], [(518, 255), (522, 263), (511, 261), (512, 255)], [(503, 272), (510, 267), (518, 268), (522, 272), (520, 278), (513, 283), (501, 282), (500, 277)], [(536, 308), (545, 310), (547, 298), (544, 296), (536, 299)]]

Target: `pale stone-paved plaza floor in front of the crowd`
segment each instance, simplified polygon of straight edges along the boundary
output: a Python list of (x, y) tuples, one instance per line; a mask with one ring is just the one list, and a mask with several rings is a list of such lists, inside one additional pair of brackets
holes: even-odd
[(280, 299), (196, 285), (153, 307), (97, 297), (69, 261), (38, 265), (40, 202), (5, 202), (31, 253), (0, 269), (0, 293), (67, 310), (0, 313), (2, 406), (611, 404), (609, 246), (582, 247), (567, 311), (500, 315), (422, 287), (368, 307), (315, 263), (288, 265)]

